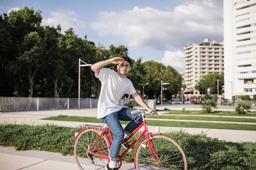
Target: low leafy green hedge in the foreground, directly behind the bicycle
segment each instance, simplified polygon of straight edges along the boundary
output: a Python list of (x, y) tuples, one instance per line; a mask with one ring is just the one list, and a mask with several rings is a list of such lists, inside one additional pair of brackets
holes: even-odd
[[(52, 124), (29, 126), (0, 124), (0, 145), (17, 150), (45, 150), (74, 154), (74, 133), (84, 127), (71, 128)], [(230, 142), (184, 130), (163, 133), (177, 141), (186, 153), (189, 170), (255, 170), (256, 142)], [(134, 150), (124, 159), (132, 161)]]

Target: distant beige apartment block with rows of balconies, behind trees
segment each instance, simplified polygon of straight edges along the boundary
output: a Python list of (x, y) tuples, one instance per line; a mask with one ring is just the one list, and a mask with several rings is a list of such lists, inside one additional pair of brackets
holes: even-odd
[(195, 90), (195, 86), (204, 75), (224, 71), (223, 43), (205, 39), (200, 44), (187, 44), (184, 47), (184, 57), (184, 97), (200, 97), (201, 94), (207, 94), (207, 89), (200, 92)]

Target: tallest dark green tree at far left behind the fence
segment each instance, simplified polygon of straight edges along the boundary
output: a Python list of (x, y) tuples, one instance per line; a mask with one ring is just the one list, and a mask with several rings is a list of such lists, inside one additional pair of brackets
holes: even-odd
[[(37, 31), (40, 31), (41, 11), (34, 11), (25, 7), (19, 11), (11, 11), (8, 19), (8, 32), (11, 35), (12, 53), (8, 55), (9, 62), (5, 70), (14, 84), (16, 95), (32, 97), (34, 76), (38, 72), (40, 54), (45, 47), (44, 40)], [(27, 81), (24, 81), (26, 75)], [(24, 84), (27, 82), (27, 84)], [(29, 90), (27, 90), (29, 89)]]

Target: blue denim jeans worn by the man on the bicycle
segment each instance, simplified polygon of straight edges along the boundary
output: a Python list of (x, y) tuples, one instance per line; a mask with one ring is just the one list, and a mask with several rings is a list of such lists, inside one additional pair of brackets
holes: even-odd
[[(142, 117), (138, 113), (131, 114), (131, 108), (122, 108), (117, 112), (110, 113), (106, 117), (101, 118), (101, 121), (107, 124), (114, 134), (114, 139), (110, 147), (110, 160), (117, 161), (121, 143), (124, 139), (124, 132), (130, 135), (142, 122)], [(119, 120), (131, 121), (124, 129)]]

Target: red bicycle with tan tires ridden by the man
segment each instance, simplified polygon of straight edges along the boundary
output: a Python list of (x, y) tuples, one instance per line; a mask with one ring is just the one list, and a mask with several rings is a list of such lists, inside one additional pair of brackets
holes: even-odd
[[(150, 133), (144, 110), (132, 111), (141, 114), (141, 125), (124, 142), (131, 143), (126, 150), (120, 150), (117, 169), (131, 170), (187, 170), (188, 163), (182, 147), (171, 137), (160, 132)], [(139, 131), (144, 127), (143, 131)], [(143, 128), (142, 128), (143, 129)], [(137, 135), (136, 135), (137, 134)], [(81, 130), (74, 140), (74, 157), (80, 170), (104, 170), (109, 162), (113, 135), (108, 127), (90, 126)], [(136, 146), (132, 160), (124, 159), (128, 150)]]

